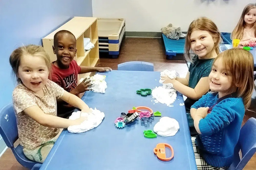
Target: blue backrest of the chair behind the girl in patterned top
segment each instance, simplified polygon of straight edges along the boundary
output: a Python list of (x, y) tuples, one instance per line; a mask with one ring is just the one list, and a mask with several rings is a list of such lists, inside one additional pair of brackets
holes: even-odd
[(16, 116), (12, 103), (0, 110), (0, 134), (9, 148), (12, 148), (13, 143), (19, 138)]

